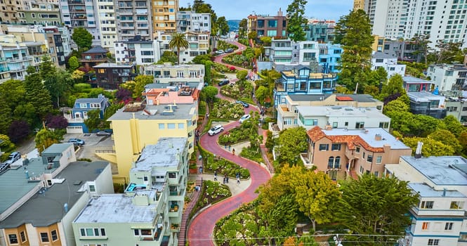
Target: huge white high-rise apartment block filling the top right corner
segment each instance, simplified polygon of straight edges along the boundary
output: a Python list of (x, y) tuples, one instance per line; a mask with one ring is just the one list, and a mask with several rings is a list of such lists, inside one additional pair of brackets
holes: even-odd
[(412, 39), (415, 34), (438, 40), (461, 42), (467, 47), (467, 4), (463, 0), (365, 0), (364, 11), (373, 25), (373, 34), (389, 39)]

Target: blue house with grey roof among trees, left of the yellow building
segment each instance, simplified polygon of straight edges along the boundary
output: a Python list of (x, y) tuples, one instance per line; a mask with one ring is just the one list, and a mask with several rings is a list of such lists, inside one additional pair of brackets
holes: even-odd
[(104, 118), (104, 112), (109, 107), (109, 98), (99, 94), (97, 98), (78, 98), (74, 101), (71, 113), (65, 115), (68, 120), (67, 133), (87, 133), (88, 127), (84, 124), (84, 119), (88, 119), (88, 112), (100, 110), (100, 119)]

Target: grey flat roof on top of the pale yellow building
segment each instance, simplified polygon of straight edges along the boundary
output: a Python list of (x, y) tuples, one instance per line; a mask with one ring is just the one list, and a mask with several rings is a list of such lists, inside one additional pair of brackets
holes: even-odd
[(164, 115), (164, 110), (168, 110), (167, 104), (160, 105), (146, 105), (145, 110), (148, 112), (156, 112), (154, 115), (147, 115), (143, 110), (136, 112), (124, 112), (124, 108), (117, 110), (108, 120), (128, 120), (133, 119), (191, 119), (192, 115), (195, 114), (197, 106), (195, 104), (178, 104), (177, 108), (173, 108), (173, 114)]

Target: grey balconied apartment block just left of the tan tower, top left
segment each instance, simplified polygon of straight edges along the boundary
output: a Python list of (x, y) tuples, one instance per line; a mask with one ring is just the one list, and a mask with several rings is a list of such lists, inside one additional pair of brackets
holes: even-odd
[[(119, 41), (129, 40), (139, 35), (143, 39), (152, 39), (150, 0), (116, 0), (117, 38)], [(155, 3), (154, 3), (155, 4)]]

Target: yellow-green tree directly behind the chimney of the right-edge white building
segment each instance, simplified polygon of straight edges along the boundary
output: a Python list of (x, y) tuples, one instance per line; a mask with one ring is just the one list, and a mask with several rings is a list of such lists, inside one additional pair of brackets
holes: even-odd
[(402, 142), (412, 148), (412, 153), (415, 153), (418, 143), (422, 142), (423, 148), (421, 148), (421, 155), (425, 157), (454, 155), (454, 148), (452, 148), (452, 146), (446, 145), (433, 138), (405, 137), (402, 138)]

